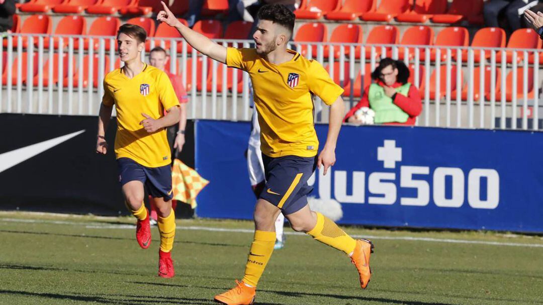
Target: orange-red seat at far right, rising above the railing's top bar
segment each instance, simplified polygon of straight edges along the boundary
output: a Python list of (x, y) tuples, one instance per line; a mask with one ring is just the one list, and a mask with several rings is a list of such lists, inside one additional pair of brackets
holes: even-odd
[[(535, 33), (533, 29), (518, 29), (513, 32), (509, 37), (507, 42), (507, 48), (512, 49), (540, 49), (541, 48), (541, 39), (539, 35)], [(513, 62), (513, 51), (506, 51), (507, 63)], [(534, 62), (533, 52), (528, 52), (528, 62)], [(524, 60), (522, 55), (522, 50), (516, 52), (516, 61), (521, 62)], [(496, 54), (496, 61), (502, 62), (501, 52)]]

